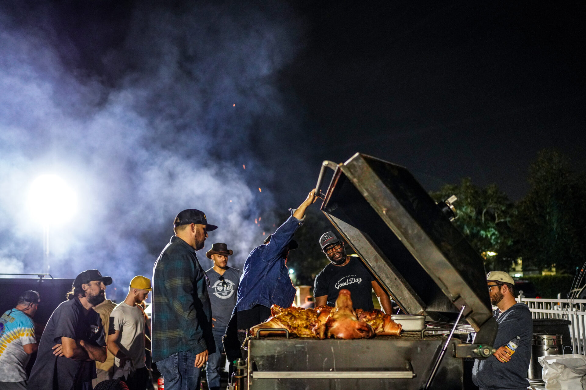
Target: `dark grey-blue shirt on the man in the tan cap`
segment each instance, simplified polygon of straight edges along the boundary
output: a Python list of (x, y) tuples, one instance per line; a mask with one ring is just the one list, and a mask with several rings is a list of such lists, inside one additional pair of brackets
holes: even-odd
[(496, 360), (494, 355), (486, 359), (476, 359), (472, 368), (472, 382), (481, 389), (526, 390), (529, 387), (527, 370), (531, 358), (533, 319), (524, 303), (517, 303), (504, 312), (496, 309), (493, 313), (499, 330), (493, 347), (498, 349), (521, 337), (517, 350), (508, 363)]

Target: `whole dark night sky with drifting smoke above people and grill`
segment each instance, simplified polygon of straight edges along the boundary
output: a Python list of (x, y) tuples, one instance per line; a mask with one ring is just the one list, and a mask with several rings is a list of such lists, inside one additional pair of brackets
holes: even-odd
[(56, 264), (83, 258), (63, 274), (123, 259), (130, 245), (145, 260), (129, 275), (148, 275), (182, 208), (230, 223), (210, 239), (238, 236), (242, 263), (260, 244), (254, 218), (297, 206), (322, 160), (357, 151), (404, 165), (429, 190), (471, 177), (519, 200), (540, 149), (586, 171), (585, 11), (536, 1), (2, 2), (0, 233), (18, 244), (0, 261), (36, 267), (27, 259), (38, 243), (13, 228), (13, 211), (39, 166), (66, 167), (96, 205), (76, 225), (97, 227), (64, 229), (63, 241), (87, 244), (56, 243)]

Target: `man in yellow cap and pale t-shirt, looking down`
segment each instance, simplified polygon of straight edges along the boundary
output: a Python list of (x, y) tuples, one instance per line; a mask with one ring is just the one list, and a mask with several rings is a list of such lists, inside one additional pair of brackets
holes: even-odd
[(145, 313), (140, 303), (152, 291), (151, 279), (135, 276), (128, 295), (110, 314), (108, 350), (115, 356), (114, 379), (121, 378), (129, 390), (145, 390), (149, 373), (145, 365)]

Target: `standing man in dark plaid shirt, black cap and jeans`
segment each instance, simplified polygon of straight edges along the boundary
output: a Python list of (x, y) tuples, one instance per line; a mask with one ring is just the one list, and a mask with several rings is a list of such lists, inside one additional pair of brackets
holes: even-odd
[(153, 268), (152, 361), (165, 378), (165, 390), (195, 389), (215, 351), (209, 281), (195, 251), (217, 226), (195, 209), (180, 212), (173, 225), (175, 236)]

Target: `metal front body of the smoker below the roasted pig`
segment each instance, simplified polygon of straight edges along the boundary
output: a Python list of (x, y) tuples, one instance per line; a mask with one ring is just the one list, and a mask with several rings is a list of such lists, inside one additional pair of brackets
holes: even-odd
[[(248, 388), (250, 389), (417, 389), (425, 386), (435, 357), (445, 338), (431, 340), (404, 337), (377, 337), (372, 340), (260, 339), (248, 344)], [(452, 340), (448, 353), (438, 371), (432, 389), (462, 389), (462, 359), (454, 357)], [(304, 372), (333, 374), (330, 379), (265, 379), (271, 372), (285, 371), (302, 375)], [(346, 378), (376, 375), (377, 372), (403, 378)], [(411, 378), (410, 372), (414, 377)], [(256, 375), (255, 373), (261, 373)], [(263, 375), (264, 374), (264, 375)]]

